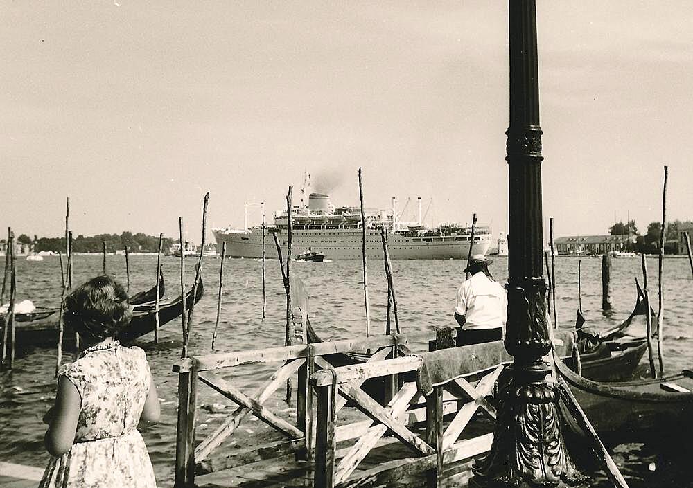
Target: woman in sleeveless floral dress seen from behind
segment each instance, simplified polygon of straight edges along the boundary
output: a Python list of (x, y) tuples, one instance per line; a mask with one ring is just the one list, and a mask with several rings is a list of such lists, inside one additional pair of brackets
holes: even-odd
[(137, 427), (158, 422), (157, 390), (144, 351), (114, 339), (130, 316), (125, 290), (107, 276), (67, 297), (64, 322), (84, 349), (58, 370), (55, 406), (44, 418), (53, 458), (40, 488), (156, 487)]

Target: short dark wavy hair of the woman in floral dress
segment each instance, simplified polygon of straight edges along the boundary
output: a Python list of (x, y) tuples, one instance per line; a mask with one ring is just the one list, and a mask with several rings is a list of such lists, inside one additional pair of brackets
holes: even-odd
[(96, 341), (115, 336), (131, 317), (128, 293), (108, 276), (92, 278), (65, 298), (65, 325)]

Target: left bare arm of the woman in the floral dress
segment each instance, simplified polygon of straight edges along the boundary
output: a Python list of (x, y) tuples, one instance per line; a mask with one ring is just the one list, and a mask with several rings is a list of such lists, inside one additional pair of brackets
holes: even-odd
[(76, 386), (66, 377), (58, 380), (58, 394), (55, 395), (55, 406), (49, 421), (48, 431), (44, 438), (46, 451), (59, 456), (70, 450), (75, 441), (77, 421), (80, 417), (82, 399)]

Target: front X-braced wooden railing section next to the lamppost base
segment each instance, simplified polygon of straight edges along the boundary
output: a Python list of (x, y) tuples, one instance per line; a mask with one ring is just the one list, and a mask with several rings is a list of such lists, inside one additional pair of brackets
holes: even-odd
[[(417, 408), (416, 402), (423, 392), (413, 381), (403, 382), (387, 406), (381, 406), (360, 388), (368, 379), (415, 372), (422, 363), (421, 356), (409, 356), (313, 374), (310, 383), (317, 391), (315, 487), (388, 485), (415, 473), (426, 473), (426, 485), (436, 487), (445, 467), (462, 460), (471, 463), (474, 456), (490, 449), (492, 433), (458, 439), (479, 408), (495, 419), (495, 408), (486, 397), (491, 395), (503, 365), (437, 384), (425, 396), (423, 408)], [(337, 411), (347, 400), (367, 415), (369, 421), (337, 426)], [(452, 419), (444, 424), (444, 416)], [(423, 437), (410, 429), (410, 425), (422, 419), (426, 422)], [(394, 439), (381, 440), (387, 431)], [(337, 451), (337, 442), (349, 438), (358, 440), (346, 453)], [(376, 445), (397, 441), (416, 452), (416, 457), (390, 459), (354, 474), (358, 464)], [(337, 460), (337, 453), (340, 453), (340, 460)], [(459, 473), (456, 482), (464, 481), (459, 479), (462, 476), (468, 476), (468, 470)]]

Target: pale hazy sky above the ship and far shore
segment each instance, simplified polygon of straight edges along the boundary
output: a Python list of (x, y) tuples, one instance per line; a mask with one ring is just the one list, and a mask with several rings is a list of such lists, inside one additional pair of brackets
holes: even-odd
[[(556, 235), (693, 218), (693, 4), (537, 6)], [(0, 3), (0, 228), (243, 226), (304, 170), (333, 203), (507, 229), (505, 1)], [(319, 181), (316, 181), (319, 183)], [(259, 219), (258, 210), (251, 222)], [(211, 234), (210, 236), (211, 237)]]

